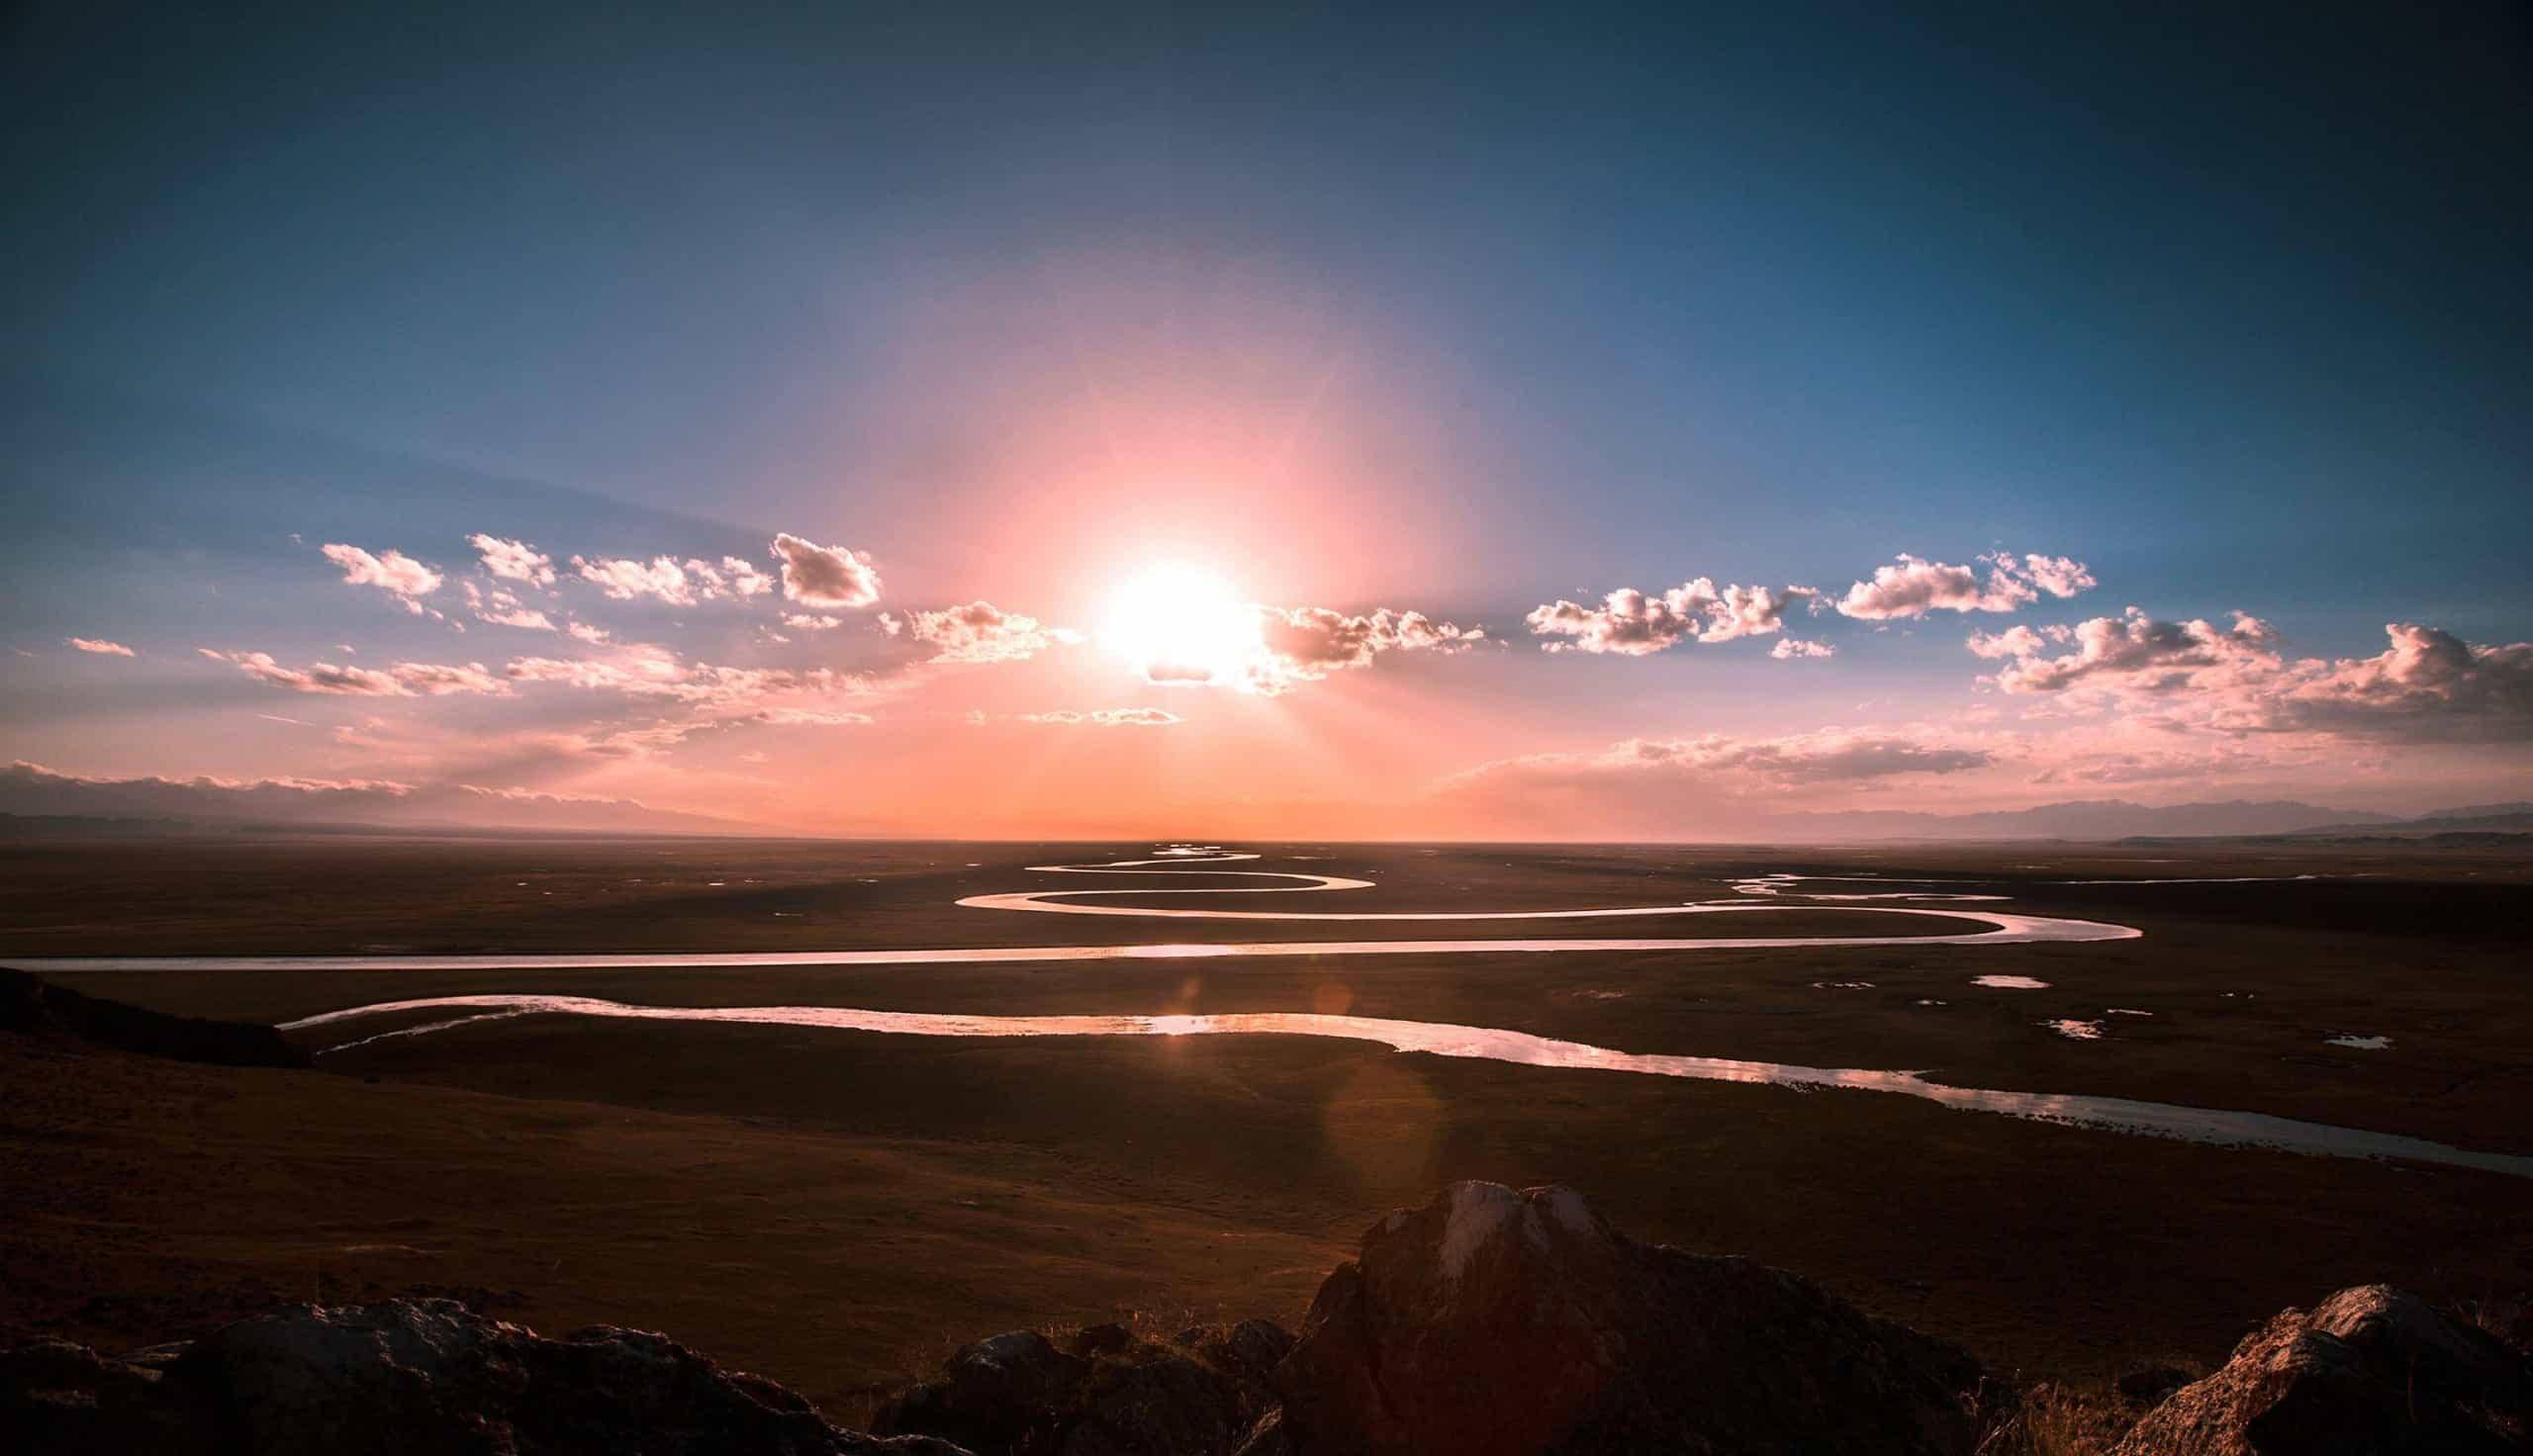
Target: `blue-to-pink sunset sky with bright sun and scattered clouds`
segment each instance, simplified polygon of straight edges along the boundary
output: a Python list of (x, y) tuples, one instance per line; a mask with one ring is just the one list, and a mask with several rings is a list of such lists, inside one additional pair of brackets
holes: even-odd
[(2525, 13), (1897, 10), (20, 8), (0, 810), (2533, 798)]

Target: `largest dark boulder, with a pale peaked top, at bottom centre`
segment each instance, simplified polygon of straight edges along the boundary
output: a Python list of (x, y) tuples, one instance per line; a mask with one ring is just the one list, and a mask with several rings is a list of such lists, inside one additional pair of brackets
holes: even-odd
[(1256, 1451), (1966, 1453), (1981, 1367), (1743, 1258), (1636, 1243), (1565, 1188), (1459, 1183), (1363, 1236)]

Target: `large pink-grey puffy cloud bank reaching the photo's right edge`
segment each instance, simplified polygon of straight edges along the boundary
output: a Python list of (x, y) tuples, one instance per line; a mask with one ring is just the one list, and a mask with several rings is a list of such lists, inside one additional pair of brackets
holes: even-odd
[[(1971, 638), (2004, 658), (2009, 694), (2075, 694), (2092, 706), (2156, 712), (2168, 727), (2229, 734), (2333, 734), (2411, 742), (2533, 739), (2533, 643), (2480, 646), (2442, 628), (2386, 623), (2386, 648), (2363, 658), (2290, 658), (2277, 631), (2156, 620), (2138, 608), (2064, 636)], [(2049, 656), (2047, 641), (2069, 651)]]

